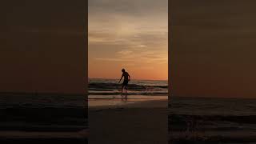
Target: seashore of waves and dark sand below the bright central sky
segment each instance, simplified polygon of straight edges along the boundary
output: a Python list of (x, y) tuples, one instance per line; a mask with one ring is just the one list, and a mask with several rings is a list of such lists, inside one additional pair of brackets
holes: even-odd
[(167, 81), (130, 81), (127, 99), (116, 79), (90, 79), (90, 144), (167, 143)]

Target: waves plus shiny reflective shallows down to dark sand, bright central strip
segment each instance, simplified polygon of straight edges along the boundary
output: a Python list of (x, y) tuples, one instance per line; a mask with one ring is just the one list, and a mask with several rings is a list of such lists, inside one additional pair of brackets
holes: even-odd
[(167, 81), (132, 79), (127, 86), (127, 98), (122, 97), (122, 82), (118, 83), (118, 81), (118, 79), (90, 78), (89, 107), (120, 106), (168, 98)]

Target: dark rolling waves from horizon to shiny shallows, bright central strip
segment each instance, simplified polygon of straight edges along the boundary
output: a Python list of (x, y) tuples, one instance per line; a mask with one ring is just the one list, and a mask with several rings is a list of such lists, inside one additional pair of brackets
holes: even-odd
[[(118, 79), (89, 79), (89, 95), (120, 95), (122, 82)], [(131, 80), (128, 84), (128, 95), (167, 96), (167, 81)]]

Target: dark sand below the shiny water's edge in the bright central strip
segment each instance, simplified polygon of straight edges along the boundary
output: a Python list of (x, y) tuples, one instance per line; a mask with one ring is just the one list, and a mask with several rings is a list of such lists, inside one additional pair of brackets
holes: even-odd
[(89, 101), (90, 144), (168, 143), (167, 99), (107, 106), (90, 104)]

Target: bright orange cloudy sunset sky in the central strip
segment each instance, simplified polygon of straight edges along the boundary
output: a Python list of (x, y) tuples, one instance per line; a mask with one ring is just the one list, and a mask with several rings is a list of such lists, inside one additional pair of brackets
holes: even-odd
[(166, 80), (167, 0), (89, 0), (89, 78)]

